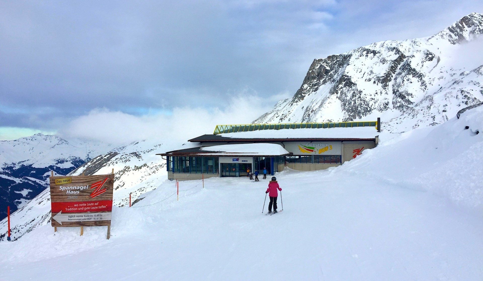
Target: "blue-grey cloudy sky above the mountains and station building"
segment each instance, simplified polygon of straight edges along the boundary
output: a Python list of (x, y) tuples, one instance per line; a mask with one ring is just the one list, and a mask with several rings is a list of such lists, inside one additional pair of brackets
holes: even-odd
[(483, 1), (0, 0), (0, 139), (250, 122), (295, 94), (314, 58), (471, 12)]

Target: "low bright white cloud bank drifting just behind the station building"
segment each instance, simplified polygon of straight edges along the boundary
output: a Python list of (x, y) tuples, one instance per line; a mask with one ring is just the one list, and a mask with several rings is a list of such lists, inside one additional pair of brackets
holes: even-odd
[(69, 122), (60, 134), (86, 140), (124, 145), (138, 140), (184, 142), (201, 134), (213, 134), (218, 124), (251, 123), (268, 111), (272, 101), (254, 94), (220, 99), (220, 107), (175, 107), (172, 114), (134, 116), (106, 108), (96, 108)]

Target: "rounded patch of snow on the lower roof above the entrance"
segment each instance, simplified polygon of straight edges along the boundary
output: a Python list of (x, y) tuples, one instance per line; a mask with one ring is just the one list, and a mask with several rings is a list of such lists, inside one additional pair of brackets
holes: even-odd
[[(286, 155), (289, 154), (284, 147), (277, 144), (237, 144), (237, 145), (221, 145), (211, 147), (200, 147), (202, 153), (215, 152), (216, 155)], [(210, 153), (212, 154), (212, 153)], [(213, 154), (213, 155), (214, 155)]]

